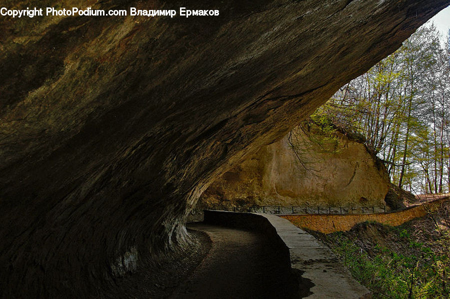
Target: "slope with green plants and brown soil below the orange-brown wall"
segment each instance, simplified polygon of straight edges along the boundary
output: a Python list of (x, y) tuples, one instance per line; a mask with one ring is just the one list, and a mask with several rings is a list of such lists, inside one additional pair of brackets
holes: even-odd
[(398, 227), (365, 222), (349, 232), (313, 234), (374, 298), (449, 298), (450, 237), (440, 226), (429, 217)]

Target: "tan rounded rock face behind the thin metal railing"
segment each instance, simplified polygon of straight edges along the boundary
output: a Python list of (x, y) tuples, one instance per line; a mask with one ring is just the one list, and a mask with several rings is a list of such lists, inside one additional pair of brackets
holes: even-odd
[(303, 122), (225, 172), (197, 206), (382, 206), (388, 189), (384, 165), (363, 143)]

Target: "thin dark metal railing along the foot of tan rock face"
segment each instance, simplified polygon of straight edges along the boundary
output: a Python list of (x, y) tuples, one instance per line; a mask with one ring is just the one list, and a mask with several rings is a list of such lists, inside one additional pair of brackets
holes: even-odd
[(257, 212), (268, 214), (375, 214), (386, 212), (386, 206), (282, 206), (252, 205), (234, 206), (235, 212)]

